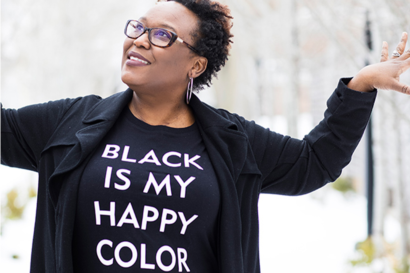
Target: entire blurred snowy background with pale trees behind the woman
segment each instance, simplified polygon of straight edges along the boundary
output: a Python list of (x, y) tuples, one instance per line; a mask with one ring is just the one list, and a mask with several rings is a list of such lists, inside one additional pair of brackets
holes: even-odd
[[(230, 60), (200, 97), (283, 134), (317, 124), (340, 77), (377, 62), (410, 32), (408, 0), (223, 0)], [(123, 27), (155, 0), (2, 0), (1, 101), (7, 108), (125, 90)], [(365, 42), (369, 19), (374, 50)], [(409, 46), (409, 45), (408, 45)], [(408, 47), (407, 47), (408, 48)], [(410, 84), (410, 71), (401, 81)], [(373, 113), (374, 220), (367, 239), (362, 140), (337, 183), (305, 196), (260, 197), (263, 273), (407, 273), (410, 98), (380, 90)], [(36, 174), (1, 166), (1, 269), (28, 272)], [(33, 197), (34, 196), (34, 197)], [(407, 267), (406, 267), (407, 264)]]

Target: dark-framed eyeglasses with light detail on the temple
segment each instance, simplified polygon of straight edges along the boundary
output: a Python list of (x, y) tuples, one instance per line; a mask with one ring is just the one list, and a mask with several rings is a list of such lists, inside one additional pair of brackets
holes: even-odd
[(189, 45), (187, 42), (178, 37), (174, 32), (168, 29), (160, 27), (145, 27), (141, 22), (137, 20), (128, 20), (125, 25), (124, 33), (128, 38), (136, 39), (142, 34), (148, 31), (148, 40), (155, 46), (158, 47), (170, 47), (175, 41), (183, 43), (190, 50), (194, 51), (196, 54), (200, 55), (198, 50), (193, 46)]

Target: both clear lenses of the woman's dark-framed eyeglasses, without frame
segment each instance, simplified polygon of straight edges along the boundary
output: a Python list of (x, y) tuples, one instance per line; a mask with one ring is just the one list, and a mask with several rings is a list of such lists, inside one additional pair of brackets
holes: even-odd
[[(126, 28), (126, 33), (128, 37), (131, 38), (138, 38), (141, 34), (144, 33), (145, 27), (143, 24), (139, 23), (138, 21), (130, 21)], [(154, 45), (160, 47), (166, 47), (171, 39), (172, 33), (166, 29), (162, 28), (152, 28), (148, 31), (148, 36), (150, 42)]]

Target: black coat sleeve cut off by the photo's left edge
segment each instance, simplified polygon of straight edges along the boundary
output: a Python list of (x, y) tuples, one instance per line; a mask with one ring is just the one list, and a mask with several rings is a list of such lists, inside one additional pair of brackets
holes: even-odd
[(1, 106), (1, 164), (37, 171), (41, 151), (76, 100), (62, 99), (18, 110)]

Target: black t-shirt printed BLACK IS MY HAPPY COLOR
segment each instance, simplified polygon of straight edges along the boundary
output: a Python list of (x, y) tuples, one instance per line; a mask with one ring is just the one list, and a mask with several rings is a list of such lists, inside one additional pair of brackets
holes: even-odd
[(74, 272), (217, 272), (219, 203), (196, 124), (151, 126), (125, 108), (80, 180)]

